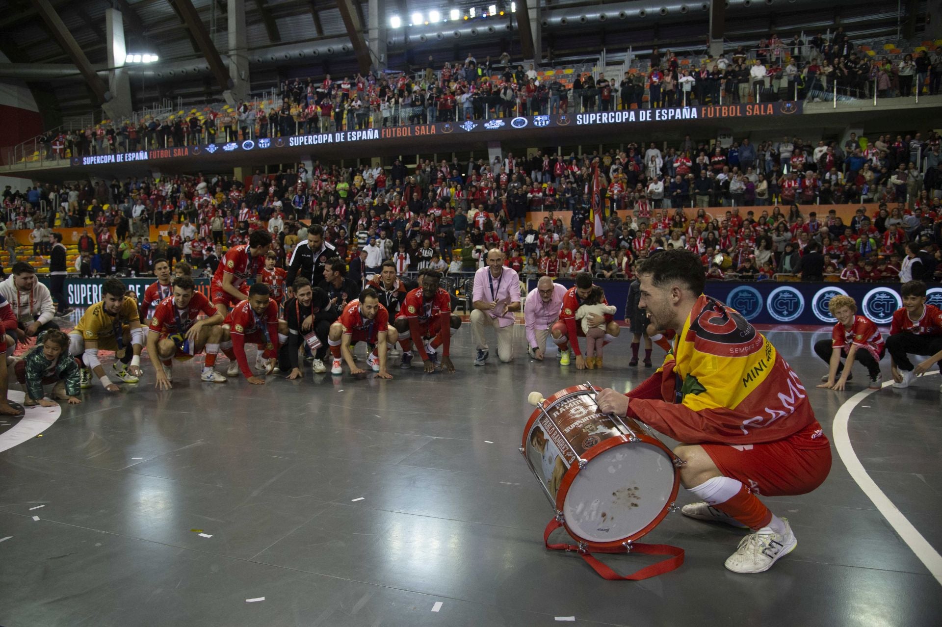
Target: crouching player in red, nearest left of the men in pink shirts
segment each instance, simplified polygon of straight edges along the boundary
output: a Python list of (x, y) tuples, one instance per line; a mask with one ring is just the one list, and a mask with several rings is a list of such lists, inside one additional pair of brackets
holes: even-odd
[(399, 308), (395, 326), (399, 346), (402, 346), (402, 363), (399, 367), (403, 369), (412, 364), (414, 339), (426, 372), (432, 372), (438, 364), (439, 346), (442, 346), (442, 367), (447, 368), (448, 372), (455, 371), (448, 356), (448, 348), (451, 344), (451, 330), (461, 327), (462, 319), (451, 314), (451, 295), (439, 287), (441, 281), (440, 272), (426, 270), (421, 285), (406, 295)]

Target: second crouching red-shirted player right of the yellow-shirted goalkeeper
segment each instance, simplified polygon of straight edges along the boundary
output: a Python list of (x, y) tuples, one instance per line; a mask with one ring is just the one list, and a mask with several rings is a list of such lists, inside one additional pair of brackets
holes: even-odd
[(278, 346), (287, 340), (287, 333), (287, 323), (278, 319), (278, 303), (271, 299), (268, 285), (254, 283), (249, 288), (249, 298), (235, 305), (226, 316), (219, 345), (206, 345), (206, 367), (212, 369), (216, 365), (216, 356), (221, 349), (230, 362), (227, 375), (235, 377), (241, 370), (250, 383), (262, 385), (265, 378), (255, 377), (252, 373), (245, 346), (258, 346), (259, 359), (255, 361), (255, 367), (268, 375), (277, 368)]

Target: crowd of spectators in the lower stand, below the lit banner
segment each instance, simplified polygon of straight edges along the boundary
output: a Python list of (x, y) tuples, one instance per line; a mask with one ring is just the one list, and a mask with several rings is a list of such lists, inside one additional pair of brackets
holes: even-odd
[[(770, 148), (762, 148), (769, 143)], [(701, 158), (692, 163), (686, 156), (678, 160), (678, 154), (694, 152), (684, 145), (663, 155), (654, 145), (643, 153), (632, 146), (618, 154), (565, 158), (540, 153), (517, 158), (508, 153), (491, 164), (426, 160), (415, 169), (399, 160), (390, 169), (344, 169), (315, 162), (310, 171), (299, 166), (274, 175), (256, 172), (245, 182), (198, 173), (159, 181), (53, 186), (41, 191), (49, 198), (45, 212), (41, 204), (27, 200), (28, 195), (9, 189), (3, 201), (9, 226), (32, 228), (40, 251), (53, 231), (47, 224), (86, 226), (76, 267), (103, 275), (147, 273), (156, 258), (186, 260), (208, 273), (225, 247), (245, 242), (258, 229), (274, 235), (277, 265), (284, 266), (295, 244), (306, 237), (306, 225), (319, 224), (360, 279), (388, 259), (397, 263), (400, 273), (427, 267), (471, 272), (483, 265), (488, 249), (499, 247), (509, 265), (533, 277), (588, 269), (599, 277), (629, 278), (634, 261), (650, 250), (687, 248), (703, 256), (716, 279), (731, 272), (747, 278), (840, 274), (847, 281), (894, 281), (901, 272), (906, 274), (905, 247), (912, 243), (913, 254), (924, 258), (921, 268), (928, 272), (916, 278), (933, 280), (942, 241), (942, 177), (936, 163), (929, 170), (935, 178), (927, 175), (914, 184), (931, 180), (932, 185), (909, 188), (906, 166), (912, 151), (927, 151), (937, 161), (938, 137), (923, 141), (917, 134), (900, 150), (884, 138), (868, 144), (867, 160), (899, 158), (888, 178), (890, 164), (879, 169), (869, 169), (869, 163), (851, 165), (854, 155), (863, 154), (856, 137), (843, 147), (825, 147), (822, 154), (827, 156), (820, 163), (832, 167), (823, 168), (818, 198), (829, 186), (832, 193), (838, 187), (857, 186), (861, 176), (866, 178), (862, 172), (869, 172), (876, 180), (873, 185), (886, 192), (879, 197), (877, 212), (868, 216), (861, 208), (850, 223), (833, 209), (819, 215), (817, 205), (805, 202), (803, 184), (794, 182), (817, 180), (817, 174), (813, 163), (794, 165), (795, 156), (804, 153), (802, 142), (762, 142), (751, 162), (744, 159), (746, 146), (744, 139), (728, 150), (712, 151), (722, 161), (713, 161), (720, 159), (714, 156), (709, 165)], [(870, 147), (876, 152), (870, 153)], [(838, 151), (851, 156), (832, 165), (830, 155)], [(643, 169), (645, 159), (658, 168)], [(794, 169), (783, 172), (789, 165)], [(674, 171), (664, 170), (669, 167)], [(690, 172), (677, 171), (682, 168)], [(833, 181), (828, 180), (832, 171)], [(768, 208), (740, 212), (749, 197), (740, 197), (733, 183), (752, 184), (753, 176), (759, 185), (774, 182), (762, 196), (761, 204)], [(682, 202), (674, 201), (674, 191), (658, 193), (664, 180), (673, 190), (685, 177), (692, 177), (692, 185), (684, 188)], [(700, 181), (708, 181), (709, 189), (698, 187)], [(593, 185), (598, 189), (594, 207)], [(858, 192), (852, 198), (861, 196)], [(530, 224), (528, 212), (548, 213)], [(595, 213), (603, 233), (595, 233)], [(152, 241), (151, 225), (168, 236)], [(114, 235), (109, 227), (115, 227)], [(816, 260), (811, 270), (808, 253), (816, 253), (810, 257)]]

